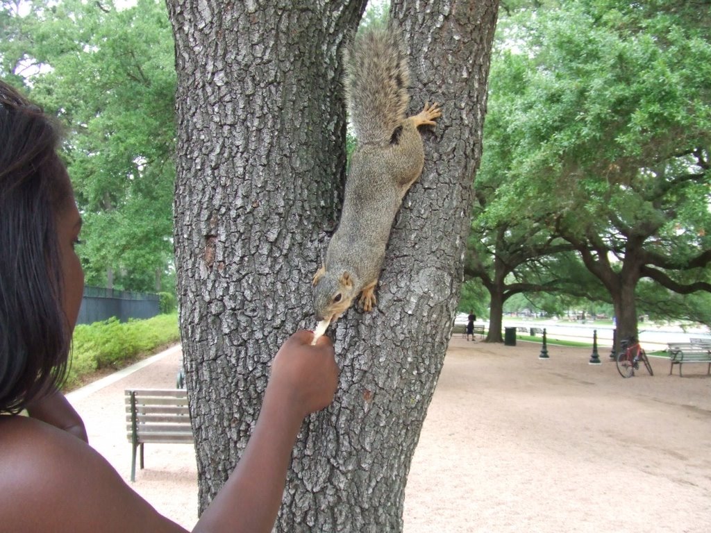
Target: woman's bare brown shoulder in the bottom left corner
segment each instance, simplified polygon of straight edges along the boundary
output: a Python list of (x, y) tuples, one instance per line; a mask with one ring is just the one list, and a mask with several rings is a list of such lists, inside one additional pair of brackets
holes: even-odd
[(4, 532), (184, 532), (79, 438), (41, 421), (0, 416)]

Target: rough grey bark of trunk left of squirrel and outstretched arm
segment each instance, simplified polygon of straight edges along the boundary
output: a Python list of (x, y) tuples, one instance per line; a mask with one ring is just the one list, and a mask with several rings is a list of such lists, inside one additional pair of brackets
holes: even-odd
[(262, 4), (169, 1), (176, 264), (201, 508), (245, 447), (274, 353), (308, 323), (317, 239), (344, 177), (340, 49), (360, 2)]

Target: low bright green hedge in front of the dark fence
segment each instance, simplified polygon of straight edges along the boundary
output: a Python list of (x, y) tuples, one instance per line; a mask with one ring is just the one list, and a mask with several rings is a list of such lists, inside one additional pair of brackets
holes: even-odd
[(140, 355), (155, 352), (179, 340), (176, 313), (126, 323), (109, 318), (103, 322), (77, 325), (71, 366), (63, 388), (75, 388), (96, 370), (122, 367)]

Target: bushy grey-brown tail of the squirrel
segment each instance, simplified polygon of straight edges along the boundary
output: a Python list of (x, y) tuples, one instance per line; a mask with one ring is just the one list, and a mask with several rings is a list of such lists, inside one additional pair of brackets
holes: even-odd
[(387, 144), (402, 124), (410, 71), (402, 34), (392, 23), (368, 28), (346, 50), (346, 101), (361, 144)]

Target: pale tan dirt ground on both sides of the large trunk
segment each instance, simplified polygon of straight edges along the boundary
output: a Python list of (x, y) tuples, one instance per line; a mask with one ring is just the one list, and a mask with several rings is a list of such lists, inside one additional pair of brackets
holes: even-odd
[[(711, 531), (711, 377), (653, 359), (622, 379), (609, 348), (450, 343), (405, 496), (405, 533)], [(124, 389), (174, 387), (179, 348), (70, 393), (90, 443), (129, 480)], [(191, 446), (146, 445), (132, 486), (190, 529)], [(129, 482), (130, 483), (130, 482)]]

